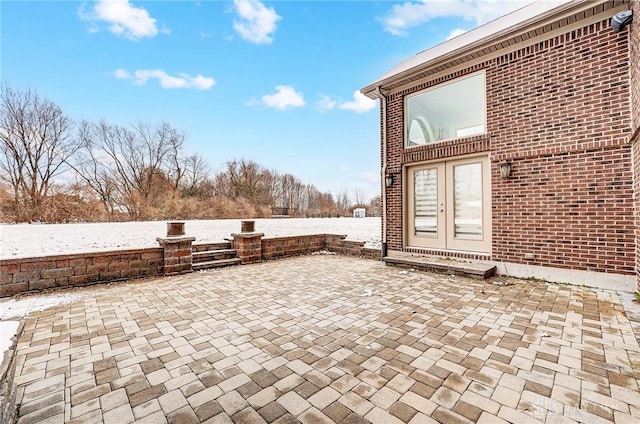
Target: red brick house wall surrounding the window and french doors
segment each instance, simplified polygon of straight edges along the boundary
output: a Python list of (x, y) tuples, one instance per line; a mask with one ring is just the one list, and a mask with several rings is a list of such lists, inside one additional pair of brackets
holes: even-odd
[[(486, 72), (488, 135), (404, 150), (404, 97), (479, 70)], [(608, 21), (422, 81), (389, 96), (388, 109), (396, 172), (403, 164), (490, 152), (492, 260), (634, 272), (628, 40)], [(499, 176), (505, 158), (513, 163), (510, 179)], [(389, 249), (403, 248), (399, 180), (387, 192)]]

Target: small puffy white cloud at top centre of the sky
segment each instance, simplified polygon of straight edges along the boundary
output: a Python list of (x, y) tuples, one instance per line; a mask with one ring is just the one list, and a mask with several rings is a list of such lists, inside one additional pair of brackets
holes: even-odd
[(233, 0), (239, 20), (233, 23), (242, 38), (256, 44), (270, 44), (276, 23), (282, 19), (273, 8), (258, 0)]

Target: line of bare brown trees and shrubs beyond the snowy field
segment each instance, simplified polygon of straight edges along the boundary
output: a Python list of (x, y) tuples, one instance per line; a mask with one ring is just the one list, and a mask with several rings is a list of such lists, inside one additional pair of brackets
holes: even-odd
[(379, 197), (334, 197), (234, 159), (213, 173), (167, 122), (74, 122), (32, 90), (0, 86), (0, 221), (102, 222), (379, 214)]

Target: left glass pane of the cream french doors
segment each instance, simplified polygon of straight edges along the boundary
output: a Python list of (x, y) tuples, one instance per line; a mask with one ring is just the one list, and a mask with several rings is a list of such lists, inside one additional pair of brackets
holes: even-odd
[(438, 170), (420, 169), (413, 172), (415, 235), (438, 236)]

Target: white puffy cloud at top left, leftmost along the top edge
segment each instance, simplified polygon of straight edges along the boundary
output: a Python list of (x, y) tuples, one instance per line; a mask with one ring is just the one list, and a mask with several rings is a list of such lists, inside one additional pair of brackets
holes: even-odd
[[(113, 34), (131, 40), (158, 34), (156, 20), (146, 9), (131, 5), (129, 0), (99, 0), (89, 12), (85, 11), (85, 6), (80, 6), (78, 13), (82, 19), (92, 22), (90, 32), (98, 31), (99, 22), (106, 22)], [(163, 32), (168, 30), (163, 28)]]

